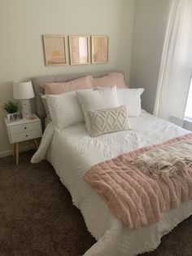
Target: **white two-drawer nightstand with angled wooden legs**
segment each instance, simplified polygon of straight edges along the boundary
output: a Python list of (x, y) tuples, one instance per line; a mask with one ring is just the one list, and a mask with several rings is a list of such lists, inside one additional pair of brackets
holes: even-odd
[(13, 143), (13, 156), (16, 155), (16, 166), (18, 166), (20, 142), (33, 139), (36, 148), (38, 148), (37, 138), (42, 136), (41, 120), (33, 114), (33, 118), (30, 119), (22, 118), (19, 121), (8, 121), (7, 117), (4, 117), (4, 121), (10, 143)]

